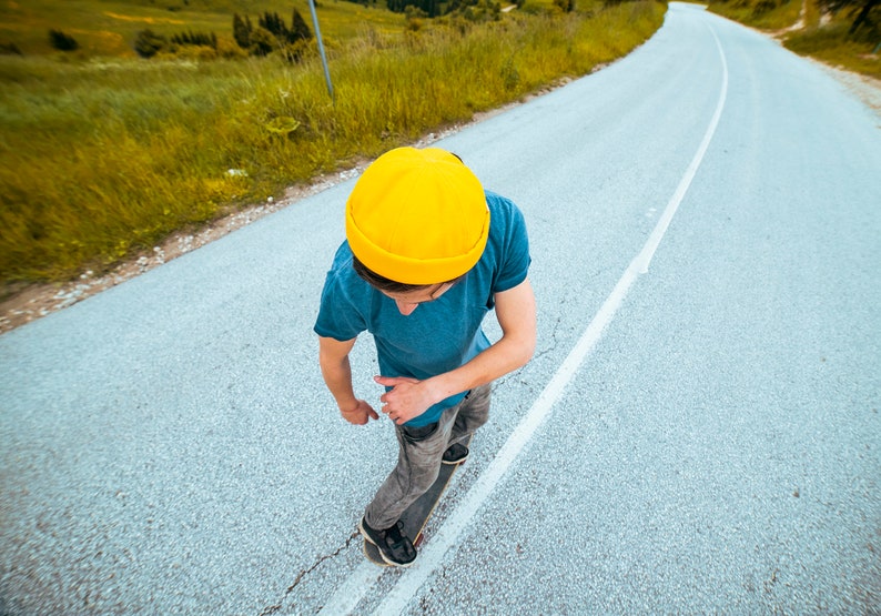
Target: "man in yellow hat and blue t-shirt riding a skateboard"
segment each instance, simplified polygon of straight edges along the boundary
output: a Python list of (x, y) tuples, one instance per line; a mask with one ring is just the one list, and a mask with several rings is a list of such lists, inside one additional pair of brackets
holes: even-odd
[[(440, 464), (463, 462), (462, 445), (489, 411), (489, 383), (529, 361), (535, 299), (527, 280), (523, 215), (484, 191), (455, 155), (436, 148), (386, 152), (346, 203), (346, 241), (324, 284), (315, 323), (322, 375), (343, 417), (377, 420), (355, 397), (348, 354), (373, 334), (381, 411), (396, 425), (398, 462), (360, 523), (389, 565), (416, 558), (401, 514), (425, 493)], [(502, 337), (480, 329), (495, 307)]]

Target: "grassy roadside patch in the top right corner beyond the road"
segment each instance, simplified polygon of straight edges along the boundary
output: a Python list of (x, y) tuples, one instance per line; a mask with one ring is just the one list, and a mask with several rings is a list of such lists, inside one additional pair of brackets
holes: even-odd
[[(781, 31), (783, 46), (801, 55), (881, 79), (881, 34), (877, 26), (849, 29), (852, 11), (821, 16), (816, 0), (733, 0), (710, 2), (710, 10), (747, 26)], [(824, 19), (823, 19), (824, 18)], [(877, 19), (877, 18), (875, 18)]]

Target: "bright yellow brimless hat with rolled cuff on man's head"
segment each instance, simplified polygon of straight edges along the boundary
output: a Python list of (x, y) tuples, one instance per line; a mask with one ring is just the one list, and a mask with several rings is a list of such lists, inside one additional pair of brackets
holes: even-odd
[(386, 152), (346, 203), (346, 238), (368, 270), (404, 284), (460, 276), (479, 261), (489, 209), (479, 180), (437, 148)]

